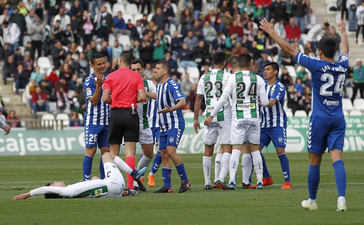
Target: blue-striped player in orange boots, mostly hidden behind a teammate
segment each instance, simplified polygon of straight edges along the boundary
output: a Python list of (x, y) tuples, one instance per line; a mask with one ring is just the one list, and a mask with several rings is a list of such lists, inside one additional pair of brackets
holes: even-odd
[[(153, 77), (153, 80), (152, 80), (153, 84), (155, 84), (155, 86), (157, 87), (160, 80), (155, 76), (155, 65), (157, 65), (157, 64), (153, 63), (150, 66), (150, 71), (151, 71), (150, 75)], [(149, 104), (149, 106), (148, 106), (149, 126), (150, 126), (150, 129), (152, 130), (153, 138), (154, 138), (155, 142), (157, 142), (157, 145), (159, 146), (160, 128), (159, 128), (159, 115), (157, 113), (158, 112), (157, 100), (149, 98), (148, 104)], [(148, 185), (150, 187), (155, 186), (154, 174), (157, 172), (157, 170), (159, 169), (159, 166), (161, 166), (161, 164), (162, 164), (161, 151), (158, 150), (158, 152), (155, 155), (154, 160), (153, 160), (153, 166), (148, 175)]]

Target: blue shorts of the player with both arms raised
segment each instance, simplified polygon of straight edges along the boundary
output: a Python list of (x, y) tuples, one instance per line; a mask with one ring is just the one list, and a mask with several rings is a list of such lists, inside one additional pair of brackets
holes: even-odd
[(311, 116), (307, 134), (307, 150), (324, 154), (328, 150), (344, 148), (345, 118), (318, 118)]

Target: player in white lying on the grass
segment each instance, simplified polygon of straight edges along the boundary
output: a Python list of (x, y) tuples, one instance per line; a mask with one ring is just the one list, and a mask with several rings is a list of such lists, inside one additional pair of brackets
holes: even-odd
[(45, 198), (104, 198), (132, 196), (138, 193), (135, 190), (124, 189), (125, 182), (120, 170), (130, 174), (134, 180), (139, 181), (139, 178), (147, 170), (146, 167), (138, 171), (133, 170), (120, 157), (108, 152), (102, 155), (102, 162), (105, 170), (105, 179), (103, 180), (100, 180), (98, 177), (92, 177), (92, 180), (68, 186), (63, 181), (55, 181), (52, 184), (48, 183), (46, 186), (36, 188), (28, 193), (19, 194), (13, 197), (12, 200), (21, 200), (42, 194), (44, 194)]

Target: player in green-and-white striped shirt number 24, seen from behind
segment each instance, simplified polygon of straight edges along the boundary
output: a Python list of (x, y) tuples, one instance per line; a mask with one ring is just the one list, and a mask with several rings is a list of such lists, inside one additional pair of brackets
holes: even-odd
[(248, 53), (239, 55), (238, 65), (241, 71), (230, 75), (220, 100), (214, 106), (210, 116), (205, 120), (205, 125), (210, 125), (210, 122), (229, 99), (229, 96), (232, 96), (231, 144), (233, 145), (233, 150), (229, 163), (230, 190), (236, 189), (235, 175), (244, 142), (249, 143), (252, 152), (254, 169), (257, 173), (257, 189), (263, 189), (262, 157), (259, 151), (260, 115), (258, 98), (260, 98), (262, 106), (265, 107), (268, 105), (268, 97), (265, 91), (264, 80), (249, 71), (252, 66), (251, 58)]

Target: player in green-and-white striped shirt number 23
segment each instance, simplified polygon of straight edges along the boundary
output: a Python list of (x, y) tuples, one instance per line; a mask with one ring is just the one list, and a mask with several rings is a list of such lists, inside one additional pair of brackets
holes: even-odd
[[(198, 113), (201, 107), (201, 101), (205, 97), (206, 103), (206, 117), (214, 109), (217, 101), (222, 95), (227, 78), (230, 73), (224, 72), (226, 66), (226, 53), (216, 52), (212, 56), (212, 63), (214, 69), (205, 75), (203, 75), (197, 85), (197, 95), (194, 108), (194, 122), (193, 128), (198, 133), (197, 128), (200, 128), (198, 121)], [(223, 183), (227, 172), (229, 171), (229, 160), (231, 156), (230, 145), (230, 126), (231, 126), (231, 105), (227, 101), (221, 110), (217, 113), (209, 126), (205, 126), (205, 133), (203, 134), (203, 143), (205, 144), (205, 153), (203, 154), (202, 164), (203, 173), (205, 174), (205, 190), (211, 190), (216, 186), (222, 188), (218, 184)], [(201, 128), (200, 128), (201, 129)], [(213, 187), (211, 187), (211, 158), (214, 153), (214, 147), (217, 141), (217, 137), (220, 137), (220, 148), (215, 158), (215, 181)]]

